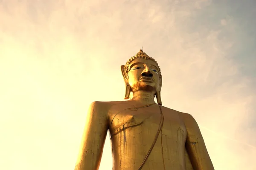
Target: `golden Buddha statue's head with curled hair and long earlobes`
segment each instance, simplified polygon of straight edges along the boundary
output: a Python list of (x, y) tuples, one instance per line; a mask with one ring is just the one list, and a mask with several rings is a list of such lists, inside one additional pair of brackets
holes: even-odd
[(130, 93), (143, 90), (151, 91), (157, 98), (158, 105), (162, 105), (161, 87), (162, 75), (157, 62), (144, 53), (141, 49), (131, 57), (126, 65), (121, 65), (121, 71), (125, 80), (125, 99), (130, 98)]

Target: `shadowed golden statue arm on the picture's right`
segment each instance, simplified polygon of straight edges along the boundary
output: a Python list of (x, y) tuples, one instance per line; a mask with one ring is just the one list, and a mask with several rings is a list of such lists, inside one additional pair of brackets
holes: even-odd
[(214, 170), (197, 122), (190, 114), (182, 113), (182, 117), (187, 130), (186, 150), (193, 169)]

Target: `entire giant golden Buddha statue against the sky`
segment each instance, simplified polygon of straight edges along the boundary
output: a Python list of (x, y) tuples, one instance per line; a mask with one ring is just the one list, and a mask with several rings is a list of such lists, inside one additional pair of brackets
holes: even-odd
[(140, 50), (121, 71), (133, 97), (90, 105), (75, 170), (99, 169), (108, 130), (112, 170), (214, 170), (195, 119), (162, 106), (157, 62)]

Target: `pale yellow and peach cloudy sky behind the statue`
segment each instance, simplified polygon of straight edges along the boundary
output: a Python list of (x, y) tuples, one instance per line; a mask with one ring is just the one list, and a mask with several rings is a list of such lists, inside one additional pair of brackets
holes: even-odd
[(143, 46), (215, 170), (256, 170), (255, 16), (255, 0), (0, 0), (0, 169), (74, 169), (90, 103), (124, 100)]

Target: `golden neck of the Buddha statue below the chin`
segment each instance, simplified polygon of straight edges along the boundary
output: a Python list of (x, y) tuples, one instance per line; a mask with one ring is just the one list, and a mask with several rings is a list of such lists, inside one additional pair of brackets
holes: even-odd
[(154, 102), (154, 93), (150, 91), (135, 91), (133, 93), (132, 101), (136, 101), (143, 105), (153, 104)]

